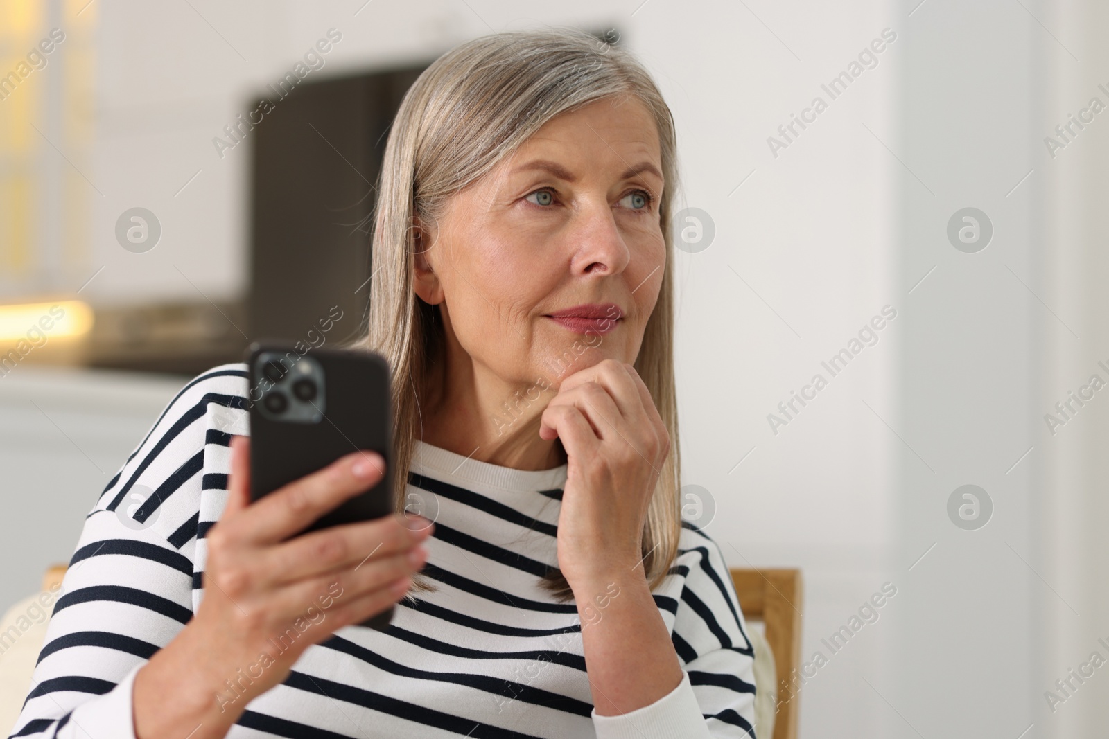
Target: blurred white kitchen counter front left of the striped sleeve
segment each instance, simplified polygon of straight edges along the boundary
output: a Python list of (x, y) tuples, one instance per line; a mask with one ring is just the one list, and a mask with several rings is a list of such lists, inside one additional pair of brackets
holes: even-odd
[(0, 613), (69, 563), (84, 516), (186, 379), (29, 365), (0, 377)]

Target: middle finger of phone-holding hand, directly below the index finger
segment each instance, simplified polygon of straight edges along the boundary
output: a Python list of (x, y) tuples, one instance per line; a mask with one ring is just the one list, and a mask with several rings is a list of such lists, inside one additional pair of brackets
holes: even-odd
[(265, 574), (260, 579), (267, 585), (295, 583), (359, 567), (368, 557), (407, 554), (433, 530), (431, 525), (411, 530), (399, 517), (388, 515), (301, 534), (266, 550), (258, 566)]

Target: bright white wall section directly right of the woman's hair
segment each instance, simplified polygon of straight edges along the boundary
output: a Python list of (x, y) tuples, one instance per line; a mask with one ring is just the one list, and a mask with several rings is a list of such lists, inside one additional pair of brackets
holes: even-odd
[[(732, 566), (804, 571), (803, 661), (820, 649), (828, 663), (802, 688), (801, 736), (896, 736), (857, 676), (885, 679), (903, 603), (838, 654), (820, 640), (883, 583), (903, 585), (887, 573), (898, 442), (864, 404), (889, 418), (908, 307), (892, 285), (897, 173), (864, 124), (896, 138), (905, 23), (877, 2), (747, 4), (773, 33), (742, 4), (660, 3), (640, 11), (650, 20), (631, 39), (675, 111), (688, 204), (716, 226), (709, 249), (679, 255), (684, 478), (713, 493), (709, 531)], [(877, 66), (832, 100), (821, 84), (885, 28), (897, 38)], [(827, 110), (774, 157), (767, 136), (816, 95)], [(822, 360), (887, 304), (897, 317), (878, 342), (832, 377)], [(775, 434), (767, 414), (817, 372), (827, 387)]]

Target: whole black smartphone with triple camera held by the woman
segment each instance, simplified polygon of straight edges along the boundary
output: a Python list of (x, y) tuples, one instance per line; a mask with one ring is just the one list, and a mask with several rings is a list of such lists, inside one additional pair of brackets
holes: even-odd
[[(254, 342), (248, 352), (251, 500), (350, 452), (372, 450), (385, 460), (384, 479), (316, 521), (305, 521), (297, 535), (393, 513), (393, 414), (385, 358), (354, 349), (302, 353), (281, 342)], [(384, 629), (393, 610), (360, 625)]]

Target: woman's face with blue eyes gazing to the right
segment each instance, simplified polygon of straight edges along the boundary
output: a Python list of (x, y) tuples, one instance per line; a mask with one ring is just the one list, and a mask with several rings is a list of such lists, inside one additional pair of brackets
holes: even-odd
[(452, 360), (460, 348), (475, 373), (556, 389), (602, 359), (634, 362), (665, 266), (662, 188), (654, 120), (628, 97), (552, 119), (452, 196), (420, 224), (415, 285), (440, 306)]

